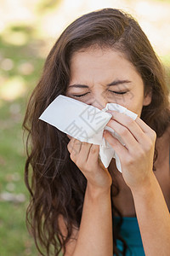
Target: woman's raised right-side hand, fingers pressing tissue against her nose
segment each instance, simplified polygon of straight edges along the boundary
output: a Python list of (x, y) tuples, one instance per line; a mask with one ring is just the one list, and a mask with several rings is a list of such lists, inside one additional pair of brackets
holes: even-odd
[(113, 117), (107, 126), (122, 137), (122, 145), (109, 131), (104, 137), (121, 160), (122, 176), (130, 189), (144, 186), (152, 177), (156, 132), (142, 119), (131, 119), (123, 113), (108, 111)]

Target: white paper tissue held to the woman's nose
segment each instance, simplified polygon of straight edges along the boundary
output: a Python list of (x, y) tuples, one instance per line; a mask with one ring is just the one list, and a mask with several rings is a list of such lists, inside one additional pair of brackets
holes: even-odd
[(111, 131), (122, 145), (122, 138), (106, 124), (111, 119), (111, 113), (107, 110), (115, 110), (127, 114), (132, 119), (137, 118), (137, 114), (116, 103), (107, 103), (105, 108), (99, 110), (94, 106), (79, 102), (67, 96), (59, 95), (45, 109), (39, 119), (54, 125), (60, 131), (65, 132), (71, 137), (77, 138), (81, 142), (93, 143), (99, 145), (99, 158), (105, 168), (107, 168), (111, 159), (116, 159), (116, 167), (122, 172), (121, 162), (111, 145), (103, 137), (103, 131)]

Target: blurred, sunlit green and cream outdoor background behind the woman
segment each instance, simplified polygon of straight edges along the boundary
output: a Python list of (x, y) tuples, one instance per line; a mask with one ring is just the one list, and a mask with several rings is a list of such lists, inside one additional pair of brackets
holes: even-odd
[(29, 195), (21, 124), (44, 59), (72, 20), (105, 7), (127, 10), (139, 20), (169, 84), (170, 1), (0, 0), (0, 256), (39, 255), (26, 230)]

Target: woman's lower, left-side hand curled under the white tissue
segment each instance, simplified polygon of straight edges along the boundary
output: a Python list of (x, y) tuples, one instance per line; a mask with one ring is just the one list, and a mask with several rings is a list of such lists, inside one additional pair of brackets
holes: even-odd
[(71, 160), (82, 171), (89, 185), (94, 189), (111, 188), (111, 175), (99, 160), (99, 145), (82, 143), (72, 137), (67, 148)]

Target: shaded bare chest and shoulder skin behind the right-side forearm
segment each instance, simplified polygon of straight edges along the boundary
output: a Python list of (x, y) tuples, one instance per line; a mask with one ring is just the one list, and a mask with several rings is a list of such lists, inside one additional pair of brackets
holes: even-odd
[[(161, 186), (162, 193), (170, 211), (170, 170), (169, 170), (169, 148), (170, 148), (170, 129), (161, 138), (156, 139), (158, 148), (158, 158), (156, 160), (156, 178)], [(109, 170), (114, 170), (114, 176), (120, 188), (120, 193), (114, 197), (116, 207), (122, 212), (124, 217), (135, 217), (134, 201), (131, 189), (124, 182), (122, 174), (116, 169), (115, 160), (111, 160)]]

